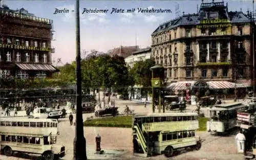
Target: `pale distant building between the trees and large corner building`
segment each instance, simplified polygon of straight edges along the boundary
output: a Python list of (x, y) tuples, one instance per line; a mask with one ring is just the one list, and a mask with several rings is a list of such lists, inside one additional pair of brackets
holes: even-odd
[(139, 49), (132, 53), (132, 55), (126, 57), (124, 59), (125, 63), (130, 67), (133, 67), (135, 62), (144, 61), (146, 59), (151, 59), (151, 47)]

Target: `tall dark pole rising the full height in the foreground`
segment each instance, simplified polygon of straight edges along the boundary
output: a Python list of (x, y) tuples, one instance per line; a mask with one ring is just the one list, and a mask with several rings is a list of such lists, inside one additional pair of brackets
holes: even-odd
[(74, 139), (74, 160), (87, 160), (86, 139), (83, 135), (82, 86), (80, 53), (80, 17), (79, 0), (76, 0), (76, 134)]

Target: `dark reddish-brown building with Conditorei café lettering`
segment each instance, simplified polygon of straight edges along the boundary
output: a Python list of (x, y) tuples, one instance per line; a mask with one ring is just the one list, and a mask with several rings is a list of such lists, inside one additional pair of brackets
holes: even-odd
[(51, 77), (53, 21), (7, 6), (0, 15), (0, 78)]

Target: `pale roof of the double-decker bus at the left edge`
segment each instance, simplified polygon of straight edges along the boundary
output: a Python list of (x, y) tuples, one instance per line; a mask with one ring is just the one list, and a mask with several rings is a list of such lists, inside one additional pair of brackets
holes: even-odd
[(56, 119), (33, 119), (33, 118), (16, 118), (16, 117), (8, 117), (8, 118), (0, 118), (0, 121), (6, 122), (58, 122)]

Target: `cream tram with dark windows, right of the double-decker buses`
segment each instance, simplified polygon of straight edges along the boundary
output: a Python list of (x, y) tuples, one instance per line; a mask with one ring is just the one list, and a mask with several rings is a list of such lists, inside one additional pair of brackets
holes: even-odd
[(209, 107), (210, 120), (207, 131), (224, 133), (237, 126), (237, 112), (244, 111), (248, 105), (243, 102), (216, 104)]

